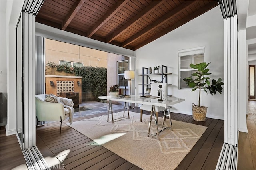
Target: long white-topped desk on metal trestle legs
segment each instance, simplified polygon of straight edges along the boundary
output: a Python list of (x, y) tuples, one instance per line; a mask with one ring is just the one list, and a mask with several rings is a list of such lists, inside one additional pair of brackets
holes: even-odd
[[(150, 98), (142, 98), (142, 97), (135, 96), (135, 95), (130, 95), (130, 97), (128, 97), (128, 98), (119, 98), (119, 97), (113, 97), (113, 96), (99, 96), (99, 99), (109, 100), (108, 120), (109, 120), (109, 112), (111, 112), (112, 123), (114, 123), (113, 110), (112, 110), (112, 100), (113, 101), (122, 101), (122, 102), (124, 102), (124, 111), (125, 111), (125, 108), (126, 108), (127, 111), (128, 111), (128, 117), (129, 117), (129, 110), (128, 110), (129, 106), (127, 106), (127, 103), (137, 103), (137, 104), (151, 105), (152, 110), (151, 110), (151, 113), (150, 113), (150, 122), (149, 122), (149, 125), (148, 125), (148, 136), (151, 135), (151, 136), (157, 136), (157, 137), (159, 135), (159, 130), (158, 130), (158, 121), (156, 119), (157, 115), (156, 115), (156, 112), (155, 112), (155, 106), (162, 106), (162, 107), (166, 107), (168, 109), (168, 116), (169, 116), (169, 119), (170, 119), (170, 124), (172, 126), (171, 116), (170, 116), (170, 109), (169, 108), (172, 105), (176, 104), (176, 103), (180, 103), (182, 101), (185, 101), (185, 99), (179, 99), (179, 98), (176, 98), (176, 97), (166, 97), (166, 101), (160, 102), (160, 101), (158, 101), (159, 98), (150, 99)], [(154, 122), (156, 123), (156, 127), (157, 127), (156, 134), (150, 134), (150, 127), (151, 127), (151, 121), (152, 121), (152, 114), (153, 113), (154, 113), (154, 117), (155, 117)], [(165, 115), (165, 111), (164, 111), (164, 115)], [(163, 124), (164, 124), (164, 122), (163, 122)], [(166, 128), (172, 128), (172, 127), (166, 127)]]

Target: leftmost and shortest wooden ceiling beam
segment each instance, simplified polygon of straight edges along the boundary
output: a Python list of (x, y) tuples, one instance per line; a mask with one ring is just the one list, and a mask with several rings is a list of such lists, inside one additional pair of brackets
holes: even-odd
[(76, 16), (76, 13), (80, 10), (82, 5), (84, 4), (86, 0), (78, 0), (74, 4), (74, 6), (71, 8), (70, 12), (66, 16), (65, 20), (62, 22), (62, 30), (66, 30), (70, 22), (73, 20), (74, 16)]

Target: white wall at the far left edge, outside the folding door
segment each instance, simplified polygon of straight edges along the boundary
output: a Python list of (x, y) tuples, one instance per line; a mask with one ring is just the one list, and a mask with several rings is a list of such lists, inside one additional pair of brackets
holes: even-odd
[[(16, 132), (16, 24), (22, 10), (24, 0), (17, 1), (2, 1), (1, 3), (1, 17), (2, 8), (6, 8), (5, 20), (1, 19), (1, 39), (2, 34), (6, 38), (4, 42), (1, 40), (1, 65), (2, 57), (6, 57), (6, 84), (7, 84), (7, 125), (6, 135), (15, 134)], [(2, 7), (3, 5), (3, 7)], [(5, 27), (5, 28), (4, 28)], [(3, 45), (3, 48), (2, 48)], [(6, 54), (2, 56), (2, 54)], [(1, 76), (2, 77), (2, 76)]]

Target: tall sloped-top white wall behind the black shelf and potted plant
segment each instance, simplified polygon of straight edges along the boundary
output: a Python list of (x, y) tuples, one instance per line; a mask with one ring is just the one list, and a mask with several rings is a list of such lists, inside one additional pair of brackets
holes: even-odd
[[(206, 63), (212, 79), (224, 79), (223, 18), (219, 6), (194, 20), (136, 50), (136, 94), (142, 93), (142, 67), (168, 66), (168, 94), (185, 101), (173, 106), (173, 112), (192, 115), (192, 103), (198, 105), (199, 91), (178, 89), (178, 50), (205, 46)], [(160, 80), (160, 78), (155, 78)], [(206, 117), (224, 119), (224, 91), (222, 95), (211, 96), (202, 91), (201, 105), (208, 107)]]

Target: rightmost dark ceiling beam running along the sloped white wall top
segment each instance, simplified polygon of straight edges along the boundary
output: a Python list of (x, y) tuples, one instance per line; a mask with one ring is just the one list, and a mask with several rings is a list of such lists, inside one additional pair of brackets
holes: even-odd
[(193, 12), (191, 15), (187, 16), (186, 18), (176, 22), (174, 25), (170, 26), (168, 29), (165, 29), (164, 31), (159, 32), (155, 36), (149, 38), (148, 40), (146, 40), (146, 41), (144, 41), (142, 43), (140, 43), (139, 45), (134, 47), (134, 50), (139, 49), (140, 47), (143, 47), (144, 45), (146, 45), (146, 44), (148, 44), (148, 43), (150, 43), (150, 42), (160, 38), (161, 36), (164, 36), (168, 32), (171, 32), (172, 30), (182, 26), (183, 24), (186, 24), (190, 20), (193, 20), (194, 18), (204, 14), (205, 12), (207, 12), (208, 10), (211, 10), (212, 8), (214, 8), (216, 6), (218, 6), (218, 1), (211, 1), (209, 4), (206, 4), (200, 10), (197, 10), (196, 12)]

